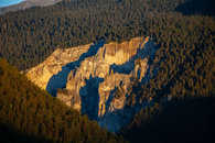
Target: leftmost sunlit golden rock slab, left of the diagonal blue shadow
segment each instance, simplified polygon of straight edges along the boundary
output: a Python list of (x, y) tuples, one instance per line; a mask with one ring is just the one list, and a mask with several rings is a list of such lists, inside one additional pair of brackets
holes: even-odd
[(78, 59), (79, 56), (89, 48), (89, 45), (67, 50), (57, 48), (42, 64), (29, 69), (26, 77), (40, 88), (46, 89), (50, 78), (60, 73), (62, 70), (62, 66)]

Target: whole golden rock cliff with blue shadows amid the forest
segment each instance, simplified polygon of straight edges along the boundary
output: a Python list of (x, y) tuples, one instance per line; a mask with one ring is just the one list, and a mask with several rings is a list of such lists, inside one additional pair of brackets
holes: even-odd
[(57, 50), (26, 75), (67, 106), (116, 132), (133, 116), (125, 109), (131, 96), (129, 86), (133, 79), (143, 79), (153, 46), (149, 37), (109, 44), (100, 40)]

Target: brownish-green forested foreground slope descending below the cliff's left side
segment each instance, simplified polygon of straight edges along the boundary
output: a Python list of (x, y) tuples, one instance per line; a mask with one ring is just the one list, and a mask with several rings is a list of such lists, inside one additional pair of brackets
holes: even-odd
[(0, 59), (0, 142), (121, 142)]

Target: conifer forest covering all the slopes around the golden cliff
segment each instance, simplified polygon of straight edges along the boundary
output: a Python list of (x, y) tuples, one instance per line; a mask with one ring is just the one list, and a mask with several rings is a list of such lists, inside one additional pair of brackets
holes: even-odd
[[(215, 114), (212, 110), (215, 102), (213, 6), (213, 0), (64, 0), (46, 8), (10, 12), (0, 16), (0, 57), (24, 70), (43, 62), (57, 47), (88, 44), (101, 37), (108, 43), (150, 36), (159, 47), (155, 55), (149, 57), (147, 74), (150, 80), (131, 84), (132, 96), (128, 98), (127, 107), (132, 108), (149, 99), (153, 105), (142, 109), (119, 134), (130, 142), (213, 142), (208, 135)], [(41, 91), (6, 62), (0, 66), (1, 129), (11, 128), (9, 132), (12, 134), (19, 130), (28, 133), (21, 135), (44, 136), (51, 142), (71, 141), (73, 136), (77, 142), (83, 139), (83, 142), (96, 142), (100, 135), (98, 142), (101, 139), (121, 141)], [(13, 78), (19, 80), (14, 82)], [(19, 98), (21, 96), (23, 98)], [(163, 101), (165, 98), (171, 99), (168, 105)], [(40, 116), (36, 110), (44, 111)], [(31, 113), (31, 117), (24, 118), (24, 113)], [(72, 123), (67, 122), (71, 118), (74, 119)], [(43, 122), (46, 123), (44, 127), (39, 125)], [(53, 122), (57, 122), (56, 127)], [(200, 122), (202, 127), (196, 125)], [(93, 130), (95, 128), (98, 130)], [(87, 132), (82, 132), (84, 130)], [(75, 133), (77, 135), (73, 135)]]

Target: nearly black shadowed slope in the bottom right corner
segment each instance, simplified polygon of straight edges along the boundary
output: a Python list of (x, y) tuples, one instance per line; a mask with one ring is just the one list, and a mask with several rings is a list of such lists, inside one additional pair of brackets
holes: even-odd
[(133, 122), (125, 133), (130, 142), (149, 143), (213, 143), (215, 98), (192, 98), (172, 101), (159, 116), (144, 122)]

